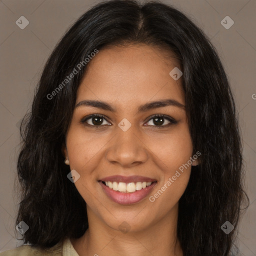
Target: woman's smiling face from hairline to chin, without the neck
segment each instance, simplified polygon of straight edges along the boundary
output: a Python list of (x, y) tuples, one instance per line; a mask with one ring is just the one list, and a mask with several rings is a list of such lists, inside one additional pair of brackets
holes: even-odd
[[(64, 152), (80, 175), (72, 172), (89, 221), (137, 231), (176, 216), (191, 169), (181, 172), (181, 166), (192, 156), (192, 142), (182, 77), (169, 74), (180, 67), (167, 53), (144, 44), (113, 46), (88, 63)], [(170, 104), (150, 104), (165, 100)], [(144, 182), (152, 183), (143, 188)]]

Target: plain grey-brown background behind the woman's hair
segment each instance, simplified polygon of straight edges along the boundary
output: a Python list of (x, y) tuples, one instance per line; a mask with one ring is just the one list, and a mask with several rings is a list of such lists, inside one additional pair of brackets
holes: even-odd
[[(0, 252), (20, 244), (14, 236), (18, 200), (14, 194), (20, 119), (29, 109), (35, 85), (54, 45), (66, 29), (99, 0), (0, 0)], [(208, 35), (227, 72), (243, 137), (245, 190), (250, 205), (242, 217), (237, 244), (256, 255), (255, 220), (255, 0), (164, 0), (187, 14)], [(20, 29), (15, 21), (25, 16)], [(224, 28), (229, 16), (234, 24)], [(254, 99), (253, 99), (254, 97)], [(19, 237), (22, 237), (21, 235)]]

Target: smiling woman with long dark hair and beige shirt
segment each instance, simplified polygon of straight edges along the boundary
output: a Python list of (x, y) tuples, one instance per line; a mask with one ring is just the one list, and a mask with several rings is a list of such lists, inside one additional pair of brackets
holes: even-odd
[(53, 50), (26, 120), (16, 224), (28, 244), (1, 256), (235, 255), (234, 100), (180, 11), (95, 5)]

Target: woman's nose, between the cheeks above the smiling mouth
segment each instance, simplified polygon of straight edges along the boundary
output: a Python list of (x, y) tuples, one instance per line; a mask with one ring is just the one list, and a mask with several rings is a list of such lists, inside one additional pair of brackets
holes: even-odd
[(126, 131), (117, 126), (116, 135), (109, 141), (108, 146), (106, 159), (122, 167), (131, 167), (148, 159), (147, 147), (133, 125)]

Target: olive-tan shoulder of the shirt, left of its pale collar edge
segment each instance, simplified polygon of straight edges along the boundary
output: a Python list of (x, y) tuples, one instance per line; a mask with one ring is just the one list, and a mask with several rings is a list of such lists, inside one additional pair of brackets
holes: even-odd
[(46, 250), (33, 247), (31, 245), (21, 245), (14, 249), (5, 250), (0, 252), (0, 256), (61, 256), (62, 255), (62, 243), (59, 242), (51, 248)]

